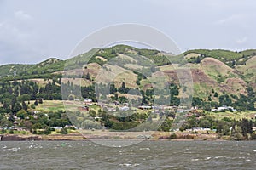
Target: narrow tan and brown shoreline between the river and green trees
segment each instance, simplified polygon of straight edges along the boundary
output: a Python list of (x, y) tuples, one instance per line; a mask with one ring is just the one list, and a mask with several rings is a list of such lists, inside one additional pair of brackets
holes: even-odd
[[(92, 132), (93, 133), (93, 132)], [(70, 133), (70, 134), (49, 134), (49, 135), (37, 135), (37, 134), (0, 134), (1, 141), (88, 141), (92, 140), (169, 140), (169, 141), (231, 141), (228, 136), (219, 137), (216, 133), (165, 133), (156, 132), (150, 137), (142, 137), (138, 133), (115, 133), (104, 132), (99, 135), (89, 135), (88, 133)], [(125, 135), (124, 135), (125, 134)], [(87, 138), (86, 138), (87, 137)], [(138, 138), (139, 137), (139, 138)], [(249, 140), (241, 140), (249, 141)]]

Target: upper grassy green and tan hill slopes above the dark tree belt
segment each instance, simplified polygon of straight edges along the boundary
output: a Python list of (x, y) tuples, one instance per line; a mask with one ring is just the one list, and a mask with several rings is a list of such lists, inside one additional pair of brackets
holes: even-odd
[[(36, 65), (2, 65), (0, 66), (0, 77), (3, 81), (51, 79), (61, 77), (64, 70), (73, 71), (72, 74), (74, 74), (76, 69), (83, 68), (83, 75), (90, 76), (90, 80), (81, 79), (84, 86), (99, 81), (96, 80), (99, 77), (99, 71), (104, 70), (109, 77), (112, 75), (116, 78), (108, 80), (108, 77), (102, 77), (102, 82), (113, 81), (117, 87), (121, 85), (121, 82), (125, 82), (128, 87), (146, 90), (152, 88), (150, 85), (152, 82), (159, 81), (151, 77), (152, 74), (158, 75), (163, 71), (169, 80), (167, 80), (168, 78), (163, 79), (162, 82), (178, 83), (175, 70), (189, 67), (194, 82), (195, 97), (211, 98), (217, 101), (218, 98), (213, 97), (212, 91), (218, 94), (247, 96), (248, 87), (256, 89), (253, 64), (255, 63), (255, 57), (253, 57), (255, 54), (256, 49), (241, 52), (222, 49), (194, 49), (180, 55), (172, 55), (154, 49), (117, 45), (110, 48), (93, 48), (85, 54), (79, 54), (65, 61), (51, 58)], [(179, 65), (174, 68), (175, 64)], [(115, 75), (119, 71), (126, 73)], [(141, 78), (140, 73), (148, 78)], [(79, 78), (77, 75), (76, 77)]]

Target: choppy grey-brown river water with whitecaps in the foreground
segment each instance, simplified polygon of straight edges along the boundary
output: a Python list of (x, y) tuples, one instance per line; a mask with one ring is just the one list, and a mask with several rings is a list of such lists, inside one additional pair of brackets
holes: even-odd
[(256, 142), (0, 142), (0, 169), (256, 169)]

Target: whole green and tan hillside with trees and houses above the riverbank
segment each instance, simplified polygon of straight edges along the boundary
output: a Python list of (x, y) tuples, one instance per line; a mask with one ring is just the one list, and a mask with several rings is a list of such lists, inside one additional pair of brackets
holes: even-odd
[[(97, 128), (101, 123), (109, 129), (126, 130), (165, 115), (158, 130), (169, 132), (172, 122), (178, 122), (181, 116), (176, 113), (182, 112), (184, 106), (195, 106), (199, 110), (189, 111), (183, 129), (230, 130), (235, 124), (245, 127), (256, 111), (255, 52), (195, 49), (172, 55), (117, 45), (93, 48), (67, 60), (51, 58), (36, 65), (2, 65), (0, 126), (10, 127), (16, 119), (19, 126), (25, 125), (32, 133), (49, 134), (51, 126), (71, 123), (68, 112), (75, 115), (72, 123), (76, 127), (90, 124)], [(186, 80), (193, 82), (191, 88)], [(84, 107), (83, 98), (91, 99), (95, 105)], [(65, 108), (61, 100), (66, 103)], [(128, 112), (127, 103), (131, 108)], [(154, 110), (142, 110), (145, 107), (140, 105), (164, 105), (167, 109), (154, 114)], [(212, 111), (223, 105), (227, 111)], [(114, 111), (115, 116), (106, 111)], [(88, 122), (89, 116), (94, 118)], [(143, 130), (148, 128), (145, 126)]]

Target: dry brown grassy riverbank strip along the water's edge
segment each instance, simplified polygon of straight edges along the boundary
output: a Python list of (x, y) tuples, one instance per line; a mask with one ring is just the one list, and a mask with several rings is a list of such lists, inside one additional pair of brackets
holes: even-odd
[[(83, 134), (83, 135), (82, 135)], [(109, 131), (83, 131), (82, 133), (70, 134), (2, 134), (2, 141), (31, 141), (31, 140), (84, 140), (84, 139), (149, 139), (149, 140), (219, 140), (216, 133), (168, 133), (168, 132), (109, 132)]]

